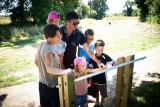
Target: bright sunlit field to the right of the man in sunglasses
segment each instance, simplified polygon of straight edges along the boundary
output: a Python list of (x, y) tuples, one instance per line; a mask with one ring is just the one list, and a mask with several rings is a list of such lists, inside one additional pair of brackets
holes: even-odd
[[(109, 24), (109, 22), (111, 24)], [(95, 40), (105, 41), (105, 52), (114, 56), (134, 54), (160, 45), (160, 26), (140, 23), (138, 17), (108, 17), (103, 20), (83, 19), (80, 28), (91, 28)]]

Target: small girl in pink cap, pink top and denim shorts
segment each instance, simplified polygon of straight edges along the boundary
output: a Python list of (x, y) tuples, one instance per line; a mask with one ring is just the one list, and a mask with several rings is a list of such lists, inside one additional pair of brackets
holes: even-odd
[[(84, 57), (77, 57), (74, 60), (75, 66), (75, 78), (86, 75), (88, 72), (95, 72), (100, 70), (97, 69), (87, 69), (87, 62)], [(76, 93), (76, 105), (80, 107), (87, 106), (87, 79), (75, 82), (75, 93)]]

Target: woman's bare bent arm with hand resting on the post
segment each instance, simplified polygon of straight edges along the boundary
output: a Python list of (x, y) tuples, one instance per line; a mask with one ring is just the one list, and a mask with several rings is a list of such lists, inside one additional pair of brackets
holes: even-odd
[(53, 67), (52, 63), (54, 63), (53, 54), (52, 52), (50, 52), (45, 56), (45, 66), (46, 66), (47, 72), (52, 75), (64, 75), (64, 74), (71, 73), (71, 69), (62, 70), (60, 68)]

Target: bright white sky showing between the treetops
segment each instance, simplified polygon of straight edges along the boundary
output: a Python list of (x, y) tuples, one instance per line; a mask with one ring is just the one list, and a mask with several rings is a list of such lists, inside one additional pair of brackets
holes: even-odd
[[(88, 3), (88, 1), (89, 0), (82, 0), (82, 2), (84, 3)], [(109, 10), (106, 13), (107, 14), (121, 13), (123, 10), (125, 1), (127, 0), (107, 0), (107, 5), (109, 7)]]

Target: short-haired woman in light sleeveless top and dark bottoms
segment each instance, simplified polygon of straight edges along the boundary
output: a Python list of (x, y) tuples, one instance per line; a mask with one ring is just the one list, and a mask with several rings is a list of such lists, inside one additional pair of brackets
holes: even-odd
[(58, 76), (71, 75), (71, 69), (60, 69), (59, 57), (53, 53), (51, 48), (54, 44), (59, 44), (61, 31), (58, 26), (48, 24), (44, 28), (45, 42), (42, 42), (37, 50), (35, 64), (39, 69), (39, 94), (40, 105), (42, 107), (60, 107)]

